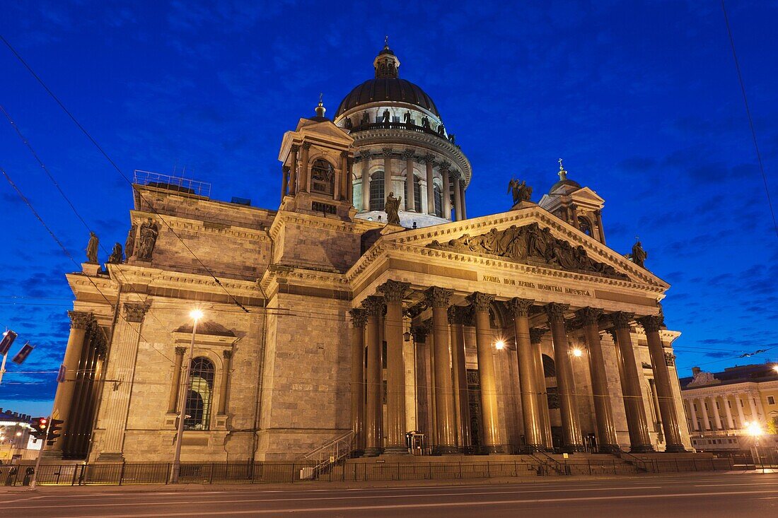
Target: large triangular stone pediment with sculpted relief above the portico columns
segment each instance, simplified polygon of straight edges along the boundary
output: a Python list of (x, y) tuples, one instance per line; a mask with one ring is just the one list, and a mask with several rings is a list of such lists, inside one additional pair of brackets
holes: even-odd
[(669, 287), (650, 271), (537, 205), (390, 234), (380, 241)]

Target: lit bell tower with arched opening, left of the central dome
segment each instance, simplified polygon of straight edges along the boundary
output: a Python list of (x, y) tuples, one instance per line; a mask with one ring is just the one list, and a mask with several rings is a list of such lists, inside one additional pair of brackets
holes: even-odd
[(326, 117), (319, 96), (316, 115), (301, 118), (281, 142), (280, 210), (351, 219), (354, 138)]

